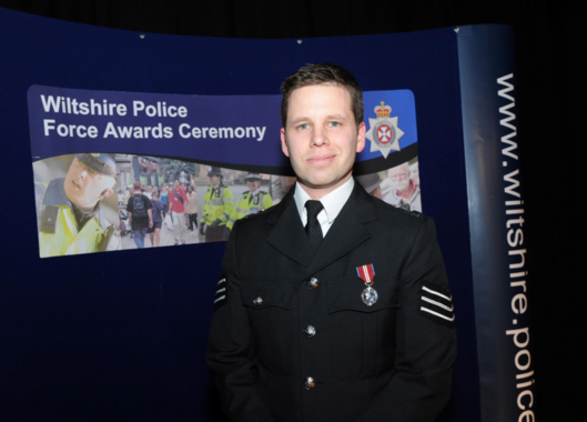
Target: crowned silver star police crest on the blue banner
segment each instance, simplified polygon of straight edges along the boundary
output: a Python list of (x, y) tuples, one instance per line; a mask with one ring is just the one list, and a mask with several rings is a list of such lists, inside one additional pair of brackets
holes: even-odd
[(404, 131), (397, 125), (398, 117), (389, 117), (391, 105), (385, 105), (382, 101), (374, 110), (377, 118), (368, 119), (370, 130), (366, 138), (371, 141), (371, 152), (378, 150), (384, 158), (387, 158), (389, 152), (399, 151), (399, 139), (404, 135)]

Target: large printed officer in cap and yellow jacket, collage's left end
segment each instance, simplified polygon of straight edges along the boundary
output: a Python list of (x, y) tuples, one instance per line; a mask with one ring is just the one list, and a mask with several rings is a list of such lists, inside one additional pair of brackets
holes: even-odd
[(65, 178), (49, 182), (41, 207), (41, 258), (121, 249), (120, 234), (102, 210), (117, 183), (114, 158), (75, 154)]

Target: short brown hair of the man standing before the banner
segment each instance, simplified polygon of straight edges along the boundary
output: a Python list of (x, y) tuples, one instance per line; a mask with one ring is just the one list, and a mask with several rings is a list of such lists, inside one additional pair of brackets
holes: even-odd
[(307, 64), (293, 72), (281, 86), (281, 121), (285, 128), (290, 96), (297, 88), (334, 84), (346, 88), (351, 94), (351, 108), (356, 125), (363, 121), (363, 90), (355, 77), (346, 69), (332, 63)]

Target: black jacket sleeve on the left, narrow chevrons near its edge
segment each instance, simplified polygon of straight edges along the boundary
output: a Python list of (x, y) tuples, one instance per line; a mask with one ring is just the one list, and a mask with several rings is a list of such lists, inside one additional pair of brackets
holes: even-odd
[(259, 393), (255, 341), (240, 294), (235, 261), (237, 227), (235, 224), (231, 231), (222, 261), (208, 343), (208, 365), (231, 421), (269, 422), (274, 419)]

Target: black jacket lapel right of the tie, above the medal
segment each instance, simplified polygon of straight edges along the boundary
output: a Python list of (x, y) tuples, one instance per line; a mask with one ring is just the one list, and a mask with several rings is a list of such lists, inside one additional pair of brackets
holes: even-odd
[[(376, 219), (377, 213), (373, 198), (355, 180), (351, 197), (322, 241), (306, 270), (305, 278), (346, 255), (370, 239), (371, 234), (363, 224)], [(305, 232), (303, 233), (305, 234)]]

